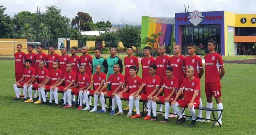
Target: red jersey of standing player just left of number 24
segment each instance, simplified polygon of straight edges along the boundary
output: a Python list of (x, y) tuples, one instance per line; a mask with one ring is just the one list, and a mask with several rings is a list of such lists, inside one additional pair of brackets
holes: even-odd
[(194, 76), (199, 78), (199, 68), (203, 68), (202, 59), (195, 55), (194, 57), (187, 56), (185, 59), (185, 71), (189, 68), (193, 67), (195, 69)]

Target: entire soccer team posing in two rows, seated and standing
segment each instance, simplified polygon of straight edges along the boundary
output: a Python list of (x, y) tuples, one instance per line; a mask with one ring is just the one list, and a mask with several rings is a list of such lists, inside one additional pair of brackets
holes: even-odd
[[(217, 108), (223, 109), (221, 102), (220, 79), (225, 74), (222, 57), (214, 51), (216, 41), (208, 41), (209, 53), (205, 59), (205, 92), (207, 107), (212, 108), (212, 96), (216, 99)], [(123, 115), (121, 99), (128, 100), (128, 114), (126, 117), (139, 118), (139, 101), (147, 101), (148, 114), (144, 120), (156, 121), (156, 103), (165, 104), (165, 117), (161, 123), (167, 123), (168, 117), (180, 117), (177, 124), (182, 124), (186, 118), (178, 107), (188, 107), (192, 116), (191, 126), (196, 125), (195, 108), (203, 106), (200, 92), (200, 78), (204, 70), (202, 59), (195, 54), (196, 45), (188, 44), (189, 56), (180, 54), (180, 45), (173, 47), (174, 56), (165, 54), (165, 45), (157, 49), (158, 57), (154, 59), (150, 55), (151, 48), (144, 47), (144, 58), (141, 60), (142, 78), (137, 76), (139, 71), (138, 58), (133, 56), (134, 49), (127, 48), (127, 57), (124, 58), (125, 74), (123, 75), (122, 60), (116, 56), (116, 48), (110, 49), (110, 57), (101, 57), (101, 50), (94, 50), (95, 58), (88, 55), (88, 47), (82, 47), (82, 55), (76, 55), (77, 48), (72, 47), (66, 54), (66, 47), (61, 49), (62, 55), (55, 53), (55, 47), (49, 47), (49, 55), (43, 53), (43, 46), (38, 45), (38, 54), (33, 53), (34, 46), (28, 45), (28, 54), (22, 52), (22, 45), (17, 45), (15, 53), (14, 100), (20, 100), (24, 96), (24, 102), (34, 102), (32, 90), (39, 92), (39, 99), (34, 104), (47, 104), (47, 92), (50, 92), (49, 104), (58, 105), (58, 92), (63, 93), (61, 101), (63, 108), (71, 108), (75, 100), (74, 95), (79, 95), (79, 107), (77, 110), (90, 110), (90, 112), (106, 112), (105, 97), (112, 98), (112, 110), (110, 115)], [(106, 76), (107, 74), (107, 76)], [(92, 79), (91, 79), (92, 78)], [(20, 88), (23, 94), (20, 95)], [(29, 99), (27, 99), (27, 93)], [(91, 110), (91, 96), (94, 96), (94, 108)], [(98, 98), (102, 109), (97, 110)], [(55, 103), (53, 103), (53, 99)], [(85, 102), (86, 108), (82, 109)], [(67, 104), (68, 103), (68, 104)], [(118, 112), (115, 113), (115, 106)], [(132, 115), (135, 104), (136, 114)], [(169, 115), (170, 106), (177, 115)], [(134, 111), (135, 111), (134, 110)], [(162, 105), (159, 106), (162, 111)], [(153, 116), (151, 117), (151, 112)], [(220, 112), (218, 112), (218, 116)], [(198, 111), (198, 117), (202, 117), (202, 111)], [(206, 112), (206, 119), (210, 119), (210, 111)], [(200, 122), (210, 122), (201, 120)], [(222, 124), (221, 118), (219, 120)], [(216, 123), (218, 125), (218, 123)]]

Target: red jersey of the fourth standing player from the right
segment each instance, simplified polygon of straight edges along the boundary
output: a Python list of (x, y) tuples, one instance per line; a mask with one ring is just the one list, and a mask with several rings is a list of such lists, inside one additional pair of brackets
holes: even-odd
[(161, 78), (161, 80), (166, 77), (165, 70), (168, 67), (169, 62), (170, 62), (170, 57), (167, 55), (164, 55), (164, 57), (161, 57), (161, 56), (156, 57), (156, 75), (158, 75)]

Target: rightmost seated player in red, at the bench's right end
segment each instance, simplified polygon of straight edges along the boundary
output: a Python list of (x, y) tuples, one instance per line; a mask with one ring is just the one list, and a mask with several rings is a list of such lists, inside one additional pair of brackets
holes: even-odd
[[(194, 68), (189, 67), (186, 70), (187, 78), (182, 82), (180, 90), (178, 91), (174, 101), (171, 103), (174, 112), (176, 112), (180, 119), (178, 119), (177, 124), (182, 124), (186, 121), (186, 118), (180, 113), (179, 106), (184, 108), (188, 106), (188, 109), (192, 116), (192, 122), (190, 126), (196, 125), (196, 110), (200, 104), (200, 97), (198, 92), (200, 91), (200, 80), (194, 77)], [(180, 94), (184, 91), (184, 99), (178, 100)], [(178, 100), (178, 101), (177, 101)]]

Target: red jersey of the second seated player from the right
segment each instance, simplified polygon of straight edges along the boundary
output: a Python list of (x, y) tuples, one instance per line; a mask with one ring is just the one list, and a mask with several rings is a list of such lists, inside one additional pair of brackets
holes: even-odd
[[(179, 87), (179, 80), (177, 77), (173, 76), (172, 79), (169, 77), (164, 78), (164, 82), (162, 84), (162, 87), (164, 87), (164, 96), (169, 96), (172, 93), (172, 90), (175, 88), (178, 89)], [(175, 96), (176, 94), (174, 94)]]

